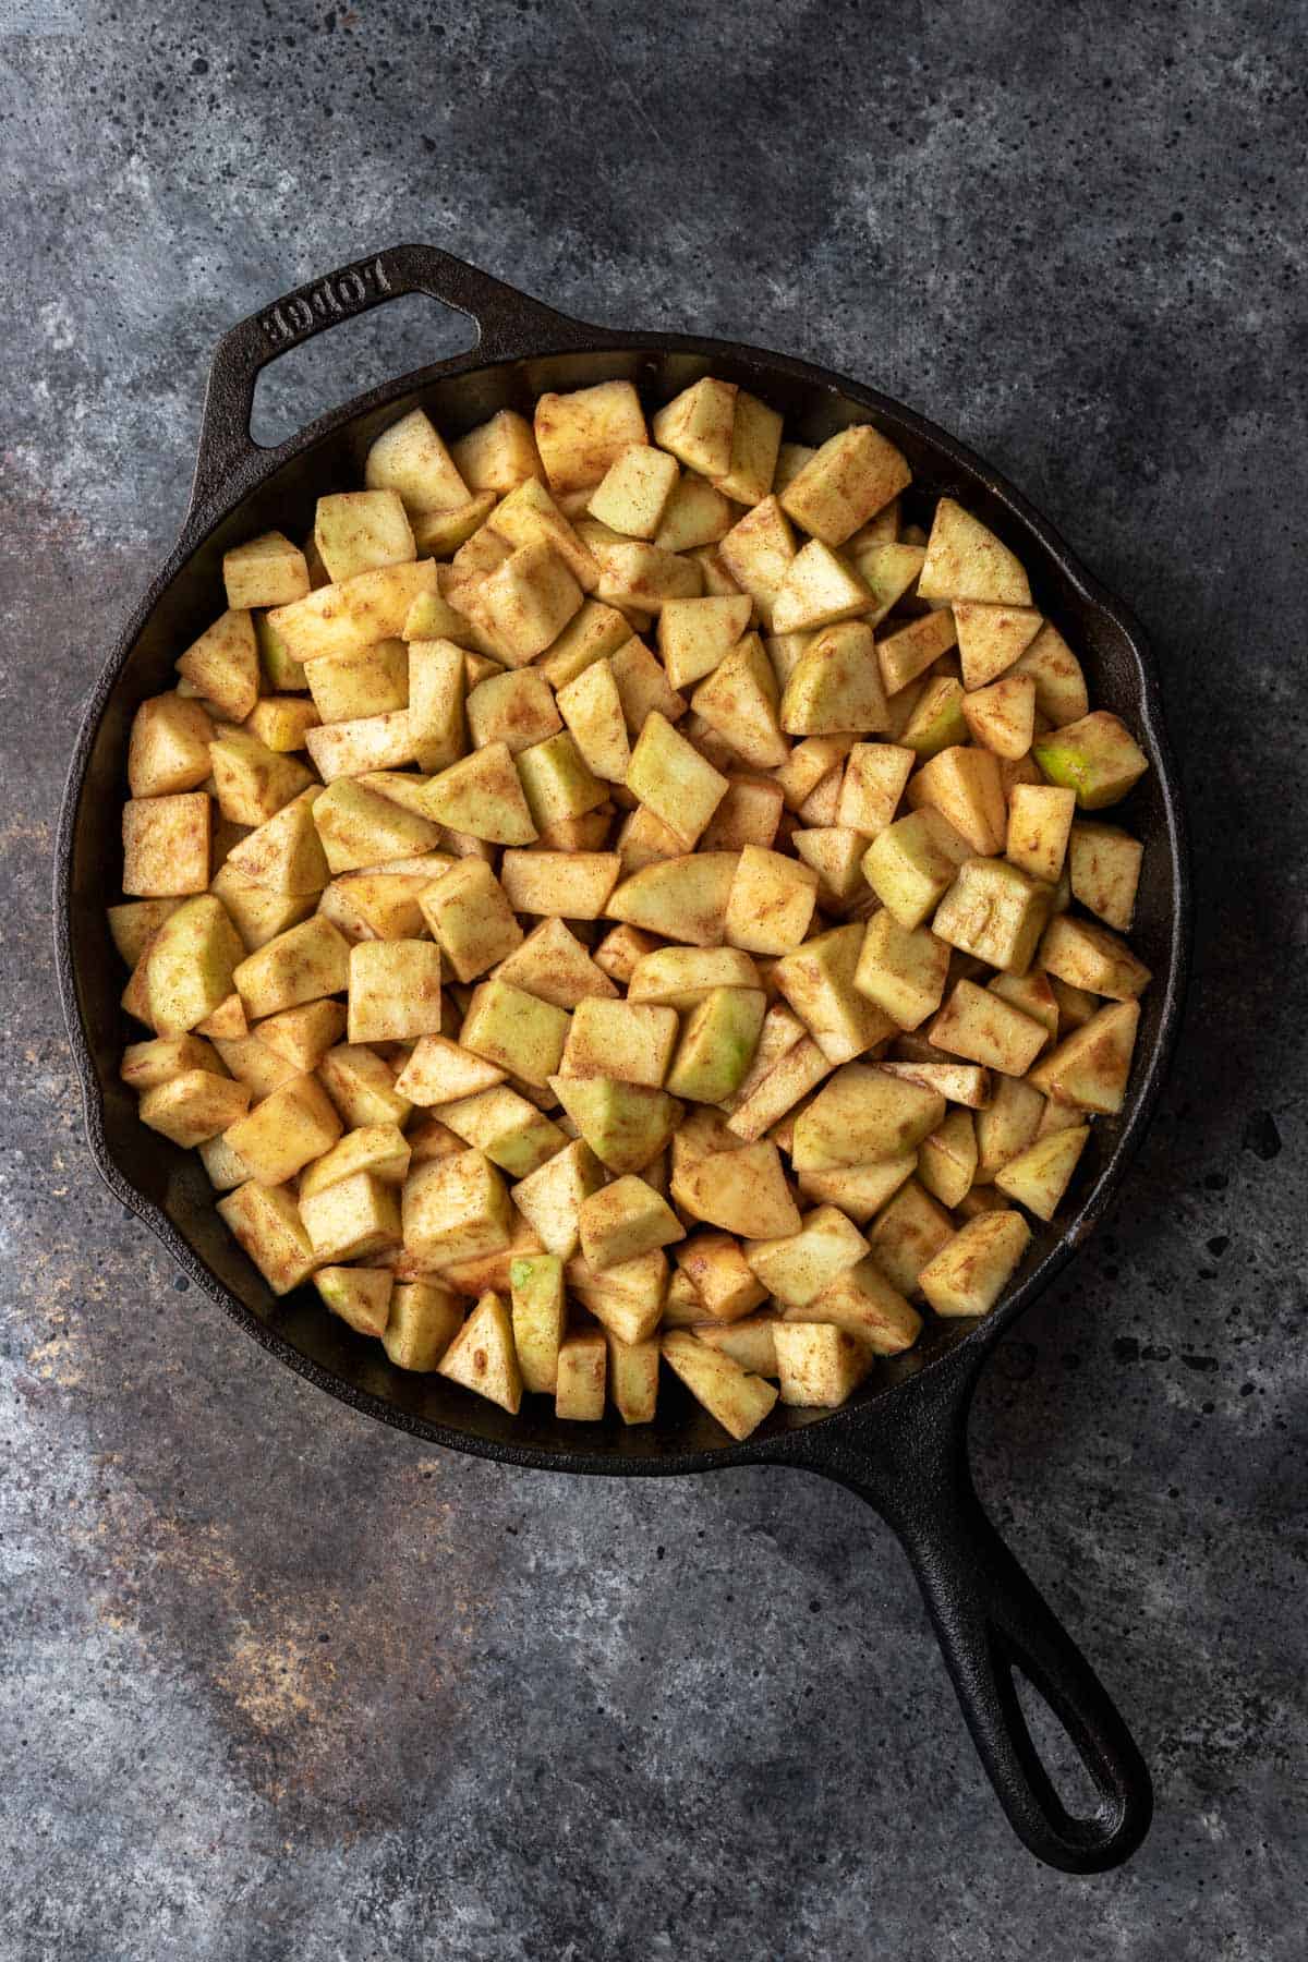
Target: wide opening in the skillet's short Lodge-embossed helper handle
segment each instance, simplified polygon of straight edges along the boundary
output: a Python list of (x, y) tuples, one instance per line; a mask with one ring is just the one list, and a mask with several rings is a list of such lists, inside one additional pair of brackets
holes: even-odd
[(353, 320), (337, 320), (271, 361), (255, 385), (249, 432), (263, 449), (378, 383), (477, 345), (477, 322), (426, 292), (406, 292)]

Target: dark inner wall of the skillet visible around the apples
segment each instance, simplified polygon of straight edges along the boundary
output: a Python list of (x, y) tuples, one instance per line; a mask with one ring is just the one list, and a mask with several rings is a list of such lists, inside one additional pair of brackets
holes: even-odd
[[(579, 1470), (690, 1470), (694, 1464), (726, 1462), (739, 1456), (767, 1456), (769, 1440), (820, 1422), (824, 1413), (779, 1411), (741, 1452), (680, 1389), (665, 1381), (659, 1420), (628, 1430), (612, 1413), (604, 1424), (573, 1426), (555, 1420), (547, 1399), (529, 1397), (518, 1419), (494, 1405), (473, 1399), (443, 1383), (394, 1369), (380, 1344), (355, 1336), (329, 1317), (314, 1289), (300, 1289), (277, 1301), (255, 1267), (229, 1240), (214, 1213), (214, 1193), (200, 1160), (180, 1152), (135, 1116), (135, 1097), (118, 1081), (126, 1042), (139, 1030), (118, 1007), (124, 985), (122, 965), (104, 922), (104, 904), (120, 891), (118, 812), (127, 795), (126, 749), (137, 704), (173, 681), (173, 661), (222, 608), (222, 553), (267, 528), (296, 538), (312, 528), (314, 502), (322, 490), (351, 489), (363, 481), (363, 459), (371, 441), (398, 416), (424, 406), (445, 436), (459, 436), (500, 408), (531, 412), (545, 388), (575, 388), (624, 377), (635, 381), (647, 406), (669, 400), (690, 381), (708, 373), (739, 381), (763, 394), (786, 418), (786, 436), (820, 443), (837, 428), (869, 418), (906, 451), (914, 469), (914, 498), (926, 502), (941, 492), (959, 496), (1004, 538), (1024, 559), (1035, 604), (1067, 636), (1081, 655), (1094, 706), (1114, 708), (1151, 753), (1153, 769), (1132, 799), (1110, 816), (1120, 818), (1145, 840), (1133, 946), (1155, 971), (1155, 987), (1143, 1003), (1133, 1089), (1122, 1118), (1098, 1120), (1090, 1148), (1079, 1167), (1073, 1199), (1079, 1207), (1057, 1226), (1039, 1230), (1035, 1246), (1008, 1301), (990, 1324), (930, 1322), (918, 1348), (892, 1364), (879, 1364), (859, 1393), (875, 1403), (896, 1383), (941, 1360), (959, 1342), (986, 1342), (1043, 1285), (1067, 1250), (1075, 1246), (1102, 1211), (1110, 1183), (1133, 1142), (1137, 1116), (1155, 1089), (1153, 1065), (1161, 1036), (1169, 1034), (1184, 957), (1181, 914), (1184, 869), (1179, 816), (1169, 783), (1165, 738), (1157, 704), (1141, 665), (1135, 630), (1088, 591), (1075, 567), (1065, 563), (1057, 542), (1031, 530), (1026, 508), (982, 465), (959, 451), (949, 438), (931, 432), (916, 416), (884, 398), (845, 392), (798, 363), (769, 359), (753, 351), (684, 345), (628, 343), (620, 349), (541, 355), (443, 375), (414, 379), (400, 392), (384, 390), (384, 400), (369, 398), (357, 414), (327, 418), (298, 453), (290, 455), (229, 516), (182, 559), (157, 594), (139, 626), (118, 681), (104, 695), (98, 728), (90, 736), (80, 799), (67, 826), (67, 893), (71, 975), (86, 1036), (88, 1116), (92, 1148), (120, 1195), (137, 1205), (163, 1232), (182, 1265), (265, 1346), (310, 1375), (324, 1389), (377, 1417), (398, 1422), (447, 1444), (551, 1462)], [(76, 795), (75, 789), (71, 795)], [(143, 1207), (141, 1207), (143, 1201)]]

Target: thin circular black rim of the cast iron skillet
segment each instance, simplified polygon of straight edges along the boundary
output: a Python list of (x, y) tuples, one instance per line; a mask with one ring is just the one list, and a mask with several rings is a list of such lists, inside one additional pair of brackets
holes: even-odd
[[(76, 744), (69, 763), (69, 775), (65, 781), (65, 793), (59, 812), (59, 834), (55, 844), (55, 891), (53, 891), (53, 910), (55, 910), (55, 967), (59, 979), (59, 995), (65, 1014), (65, 1024), (69, 1030), (69, 1046), (73, 1054), (73, 1063), (78, 1075), (82, 1091), (82, 1110), (86, 1122), (86, 1140), (90, 1146), (92, 1162), (96, 1171), (114, 1193), (114, 1197), (137, 1218), (141, 1218), (151, 1232), (163, 1242), (182, 1273), (188, 1275), (202, 1289), (202, 1293), (214, 1301), (224, 1313), (235, 1320), (249, 1336), (253, 1336), (265, 1350), (286, 1364), (296, 1375), (304, 1377), (314, 1387), (327, 1391), (339, 1403), (361, 1411), (380, 1422), (390, 1424), (396, 1430), (404, 1430), (410, 1436), (418, 1436), (424, 1442), (439, 1444), (447, 1450), (467, 1452), (475, 1458), (484, 1458), (496, 1464), (514, 1464), (526, 1470), (543, 1472), (569, 1472), (600, 1477), (677, 1477), (692, 1472), (726, 1472), (747, 1464), (796, 1464), (812, 1462), (822, 1456), (824, 1442), (835, 1452), (847, 1448), (857, 1438), (871, 1436), (875, 1424), (884, 1420), (888, 1409), (896, 1409), (906, 1415), (910, 1405), (910, 1391), (920, 1397), (930, 1397), (931, 1393), (953, 1393), (959, 1405), (965, 1409), (971, 1397), (975, 1379), (990, 1354), (990, 1348), (1000, 1340), (1000, 1336), (1012, 1328), (1020, 1317), (1031, 1307), (1035, 1297), (1067, 1267), (1073, 1256), (1081, 1250), (1084, 1240), (1102, 1222), (1110, 1205), (1118, 1197), (1126, 1171), (1139, 1150), (1149, 1120), (1157, 1109), (1157, 1101), (1167, 1079), (1169, 1063), (1175, 1056), (1177, 1036), (1181, 1028), (1181, 1016), (1184, 1007), (1184, 987), (1188, 973), (1190, 955), (1190, 936), (1192, 936), (1192, 889), (1190, 889), (1190, 861), (1186, 848), (1186, 824), (1184, 824), (1184, 804), (1181, 793), (1181, 779), (1177, 771), (1177, 761), (1167, 736), (1167, 724), (1163, 714), (1161, 683), (1153, 661), (1153, 653), (1145, 640), (1143, 628), (1128, 610), (1128, 606), (1110, 593), (1102, 581), (1098, 581), (1071, 551), (1061, 534), (1030, 504), (1030, 500), (984, 457), (973, 451), (967, 443), (959, 441), (939, 424), (922, 416), (908, 404), (888, 396), (877, 388), (857, 383), (849, 377), (839, 375), (833, 369), (824, 369), (816, 363), (802, 361), (794, 355), (780, 355), (771, 349), (755, 347), (751, 343), (726, 341), (712, 336), (688, 336), (688, 334), (628, 334), (620, 330), (610, 330), (602, 326), (592, 326), (586, 322), (571, 320), (563, 314), (553, 314), (541, 302), (524, 298), (524, 318), (528, 322), (528, 334), (533, 345), (520, 353), (498, 353), (494, 359), (482, 359), (482, 343), (478, 341), (465, 353), (449, 359), (431, 363), (428, 367), (416, 369), (408, 375), (394, 377), (392, 381), (380, 383), (378, 387), (353, 396), (349, 402), (339, 404), (326, 416), (316, 418), (306, 424), (288, 441), (277, 445), (275, 449), (261, 449), (249, 439), (249, 447), (241, 457), (239, 465), (231, 471), (224, 489), (216, 494), (200, 496), (200, 483), (204, 477), (204, 434), (208, 426), (202, 424), (200, 434), (200, 455), (196, 463), (196, 492), (192, 492), (192, 504), (182, 520), (178, 538), (165, 557), (159, 571), (149, 581), (141, 600), (131, 610), (127, 622), (124, 624), (118, 642), (100, 671), (78, 728)], [(233, 330), (235, 332), (235, 330)], [(800, 383), (808, 388), (822, 390), (835, 398), (853, 400), (867, 408), (875, 416), (880, 416), (890, 426), (900, 426), (910, 430), (918, 441), (928, 445), (943, 463), (951, 469), (963, 471), (975, 477), (984, 489), (994, 496), (1014, 522), (1020, 532), (1035, 538), (1037, 545), (1053, 559), (1059, 573), (1069, 581), (1069, 585), (1081, 594), (1082, 602), (1096, 610), (1112, 628), (1116, 628), (1122, 644), (1130, 649), (1133, 671), (1137, 704), (1135, 718), (1137, 730), (1143, 738), (1143, 746), (1149, 753), (1151, 767), (1157, 775), (1159, 797), (1163, 808), (1163, 840), (1169, 850), (1171, 859), (1171, 883), (1175, 891), (1175, 910), (1171, 916), (1169, 932), (1169, 959), (1167, 973), (1155, 977), (1155, 985), (1161, 989), (1161, 1008), (1159, 1008), (1159, 1028), (1153, 1048), (1145, 1058), (1135, 1061), (1135, 1083), (1130, 1089), (1128, 1112), (1122, 1118), (1122, 1128), (1112, 1142), (1112, 1150), (1100, 1167), (1094, 1185), (1084, 1193), (1077, 1213), (1069, 1220), (1067, 1230), (1061, 1240), (1057, 1240), (1024, 1275), (1020, 1285), (1008, 1293), (998, 1307), (984, 1318), (981, 1318), (967, 1334), (963, 1334), (951, 1348), (933, 1356), (930, 1362), (922, 1364), (910, 1377), (898, 1383), (882, 1383), (865, 1401), (843, 1405), (835, 1411), (812, 1417), (806, 1422), (794, 1424), (784, 1432), (763, 1432), (747, 1438), (745, 1442), (724, 1442), (722, 1446), (698, 1448), (698, 1450), (665, 1450), (665, 1452), (624, 1452), (624, 1454), (600, 1454), (584, 1448), (559, 1448), (547, 1450), (533, 1444), (520, 1444), (514, 1438), (490, 1438), (480, 1436), (473, 1430), (463, 1430), (453, 1424), (435, 1422), (433, 1419), (422, 1417), (412, 1411), (404, 1411), (384, 1397), (375, 1395), (369, 1389), (347, 1383), (343, 1377), (335, 1375), (324, 1364), (302, 1354), (277, 1326), (261, 1320), (253, 1309), (249, 1309), (229, 1287), (220, 1281), (220, 1277), (206, 1265), (200, 1254), (184, 1238), (178, 1226), (169, 1218), (169, 1214), (141, 1193), (124, 1167), (114, 1158), (106, 1126), (104, 1126), (104, 1097), (100, 1087), (100, 1075), (96, 1071), (94, 1056), (86, 1038), (86, 1026), (80, 1008), (78, 991), (78, 971), (73, 954), (73, 855), (75, 838), (78, 830), (82, 789), (86, 783), (86, 771), (94, 740), (100, 730), (100, 722), (110, 706), (118, 681), (131, 657), (135, 642), (145, 628), (149, 616), (153, 614), (159, 598), (167, 587), (186, 569), (190, 559), (200, 551), (212, 532), (229, 518), (247, 496), (251, 496), (259, 487), (263, 487), (277, 471), (292, 463), (304, 451), (312, 449), (316, 443), (337, 434), (347, 424), (357, 418), (382, 410), (390, 406), (400, 396), (431, 388), (437, 383), (451, 381), (457, 377), (467, 377), (473, 373), (490, 373), (494, 369), (518, 369), (528, 361), (549, 359), (553, 355), (604, 355), (604, 353), (626, 353), (626, 355), (667, 355), (680, 353), (692, 355), (696, 359), (714, 359), (714, 355), (728, 357), (733, 365), (745, 365), (755, 369), (761, 377), (784, 375), (788, 381)], [(208, 404), (206, 404), (208, 408)], [(1149, 842), (1149, 840), (1147, 840)], [(653, 1426), (657, 1428), (657, 1426)]]

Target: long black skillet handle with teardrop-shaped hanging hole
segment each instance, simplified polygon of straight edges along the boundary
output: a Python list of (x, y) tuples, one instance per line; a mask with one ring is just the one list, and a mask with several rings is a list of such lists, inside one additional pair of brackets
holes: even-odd
[[(1149, 1831), (1149, 1770), (1098, 1676), (977, 1497), (967, 1454), (977, 1377), (971, 1360), (957, 1362), (904, 1383), (863, 1422), (849, 1413), (845, 1424), (800, 1432), (796, 1458), (859, 1493), (898, 1532), (1018, 1838), (1049, 1866), (1100, 1874), (1128, 1860)], [(1022, 1713), (1014, 1668), (1090, 1774), (1098, 1805), (1088, 1817), (1071, 1815), (1059, 1799)]]

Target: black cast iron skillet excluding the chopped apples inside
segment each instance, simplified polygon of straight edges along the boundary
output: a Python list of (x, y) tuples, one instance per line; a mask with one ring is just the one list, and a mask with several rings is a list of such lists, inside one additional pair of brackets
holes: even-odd
[[(259, 449), (249, 434), (259, 369), (335, 320), (404, 292), (428, 292), (467, 314), (478, 330), (477, 345), (373, 388), (275, 449)], [(1126, 1110), (1092, 1130), (1075, 1216), (1037, 1236), (1020, 1279), (986, 1320), (930, 1324), (918, 1348), (879, 1366), (875, 1381), (845, 1409), (779, 1409), (745, 1444), (726, 1440), (673, 1383), (663, 1389), (657, 1424), (635, 1430), (616, 1420), (557, 1422), (543, 1399), (529, 1399), (510, 1419), (439, 1377), (392, 1369), (378, 1344), (324, 1315), (312, 1289), (275, 1301), (214, 1213), (198, 1158), (145, 1130), (135, 1099), (118, 1081), (131, 1036), (118, 1007), (122, 969), (104, 920), (106, 901), (120, 891), (118, 808), (131, 714), (143, 697), (171, 685), (173, 659), (218, 610), (227, 545), (271, 526), (304, 536), (318, 492), (361, 483), (373, 438), (418, 404), (445, 436), (459, 436), (498, 408), (529, 414), (545, 388), (629, 377), (657, 404), (710, 371), (767, 396), (784, 412), (786, 434), (806, 441), (871, 416), (906, 451), (922, 492), (953, 492), (992, 524), (1030, 569), (1035, 602), (1082, 655), (1094, 702), (1130, 722), (1153, 765), (1126, 822), (1147, 842), (1133, 942), (1155, 981), (1143, 1005)], [(857, 1491), (904, 1542), (963, 1715), (1016, 1833), (1041, 1860), (1079, 1874), (1116, 1866), (1139, 1844), (1151, 1813), (1149, 1774), (1090, 1664), (981, 1509), (969, 1472), (967, 1413), (998, 1338), (1122, 1185), (1177, 1032), (1188, 910), (1175, 765), (1141, 632), (1002, 477), (912, 410), (806, 361), (567, 320), (428, 245), (398, 245), (331, 273), (220, 341), (190, 510), (96, 683), (69, 775), (55, 871), (59, 983), (100, 1175), (241, 1328), (343, 1403), (482, 1458), (547, 1472), (641, 1475), (779, 1464)], [(1071, 1817), (1059, 1801), (1026, 1727), (1014, 1670), (1039, 1691), (1084, 1760), (1098, 1791), (1088, 1817)]]

